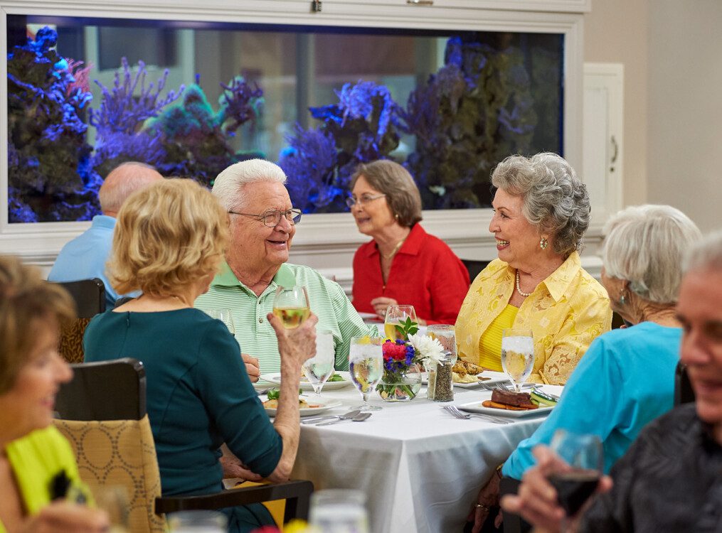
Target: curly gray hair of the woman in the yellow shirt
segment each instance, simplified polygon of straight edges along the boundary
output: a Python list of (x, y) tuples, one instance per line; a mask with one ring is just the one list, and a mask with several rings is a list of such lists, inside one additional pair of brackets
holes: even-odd
[(586, 185), (563, 157), (551, 152), (507, 157), (492, 172), (492, 185), (521, 196), (521, 213), (553, 236), (554, 252), (567, 257), (582, 250), (591, 203)]

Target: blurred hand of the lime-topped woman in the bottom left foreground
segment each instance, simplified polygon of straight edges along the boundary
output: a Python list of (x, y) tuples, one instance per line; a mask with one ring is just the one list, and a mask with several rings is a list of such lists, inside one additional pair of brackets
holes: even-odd
[(22, 533), (102, 533), (110, 529), (105, 511), (56, 501), (25, 521)]

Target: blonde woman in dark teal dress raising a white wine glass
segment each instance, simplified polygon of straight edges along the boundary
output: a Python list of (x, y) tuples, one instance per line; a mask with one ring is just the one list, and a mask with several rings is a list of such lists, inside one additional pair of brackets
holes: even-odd
[[(137, 191), (118, 213), (108, 264), (114, 288), (121, 294), (141, 290), (142, 296), (98, 315), (85, 332), (86, 361), (143, 361), (163, 495), (222, 490), (223, 443), (254, 480), (287, 480), (295, 461), (300, 367), (316, 351), (317, 319), (286, 330), (267, 317), (278, 338), (282, 376), (271, 423), (235, 338), (222, 322), (193, 309), (227, 242), (225, 211), (196, 182), (163, 180)], [(260, 504), (225, 512), (230, 532), (273, 524)]]

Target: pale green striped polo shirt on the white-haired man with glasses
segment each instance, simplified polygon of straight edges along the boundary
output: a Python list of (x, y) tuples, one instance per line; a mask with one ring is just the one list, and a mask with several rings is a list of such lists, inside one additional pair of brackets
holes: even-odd
[(241, 351), (258, 358), (261, 373), (278, 372), (281, 369), (278, 341), (266, 314), (273, 311), (274, 296), (279, 285), (305, 286), (311, 311), (318, 317), (316, 327), (334, 333), (336, 370), (348, 370), (351, 338), (359, 335), (375, 336), (375, 330), (363, 323), (344, 289), (313, 268), (284, 263), (261, 296), (256, 296), (250, 288), (238, 281), (224, 261), (209, 291), (196, 299), (195, 307), (230, 309), (235, 338)]

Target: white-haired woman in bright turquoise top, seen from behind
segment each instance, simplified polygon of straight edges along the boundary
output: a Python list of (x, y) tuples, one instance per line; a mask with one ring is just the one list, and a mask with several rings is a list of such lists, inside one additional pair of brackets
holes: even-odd
[(501, 475), (521, 480), (534, 465), (531, 450), (549, 444), (557, 429), (599, 436), (609, 472), (642, 428), (673, 406), (682, 340), (675, 304), (684, 255), (700, 230), (673, 207), (647, 205), (619, 211), (604, 232), (601, 281), (612, 309), (633, 326), (591, 344), (557, 407), (482, 488), (472, 509), (474, 532), (498, 503)]

